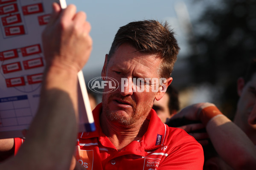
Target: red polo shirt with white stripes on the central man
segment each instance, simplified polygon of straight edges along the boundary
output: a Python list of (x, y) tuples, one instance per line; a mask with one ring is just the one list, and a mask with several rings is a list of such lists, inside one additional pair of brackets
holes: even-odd
[(79, 133), (76, 159), (86, 170), (202, 170), (204, 153), (184, 130), (168, 127), (151, 109), (148, 130), (140, 141), (122, 150), (102, 132), (99, 115), (102, 104), (93, 110), (96, 131)]

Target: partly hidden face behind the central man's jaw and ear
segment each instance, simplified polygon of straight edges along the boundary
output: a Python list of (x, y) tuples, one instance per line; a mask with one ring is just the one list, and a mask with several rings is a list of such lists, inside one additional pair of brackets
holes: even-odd
[(163, 123), (166, 123), (168, 119), (171, 118), (171, 113), (168, 107), (169, 96), (164, 94), (162, 99), (155, 100), (153, 109), (157, 112), (157, 116), (161, 119)]

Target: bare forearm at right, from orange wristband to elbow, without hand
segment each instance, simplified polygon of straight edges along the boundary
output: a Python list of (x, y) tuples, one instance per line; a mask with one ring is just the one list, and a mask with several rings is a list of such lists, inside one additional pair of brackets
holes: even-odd
[(206, 130), (217, 153), (233, 169), (251, 170), (256, 167), (256, 147), (226, 116), (213, 117)]

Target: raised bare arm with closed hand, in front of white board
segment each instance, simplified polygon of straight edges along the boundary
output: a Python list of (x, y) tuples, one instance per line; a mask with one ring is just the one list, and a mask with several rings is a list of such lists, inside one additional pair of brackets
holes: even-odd
[(47, 68), (38, 113), (17, 156), (0, 169), (69, 170), (77, 137), (77, 73), (89, 58), (92, 40), (85, 13), (76, 7), (54, 12), (43, 33)]

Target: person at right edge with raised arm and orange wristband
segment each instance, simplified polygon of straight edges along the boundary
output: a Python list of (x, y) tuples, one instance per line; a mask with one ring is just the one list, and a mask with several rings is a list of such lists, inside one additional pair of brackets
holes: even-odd
[(215, 105), (199, 103), (184, 108), (167, 124), (179, 126), (203, 145), (206, 170), (255, 169), (256, 59), (251, 60), (245, 76), (238, 79), (237, 93), (239, 101), (234, 122)]

